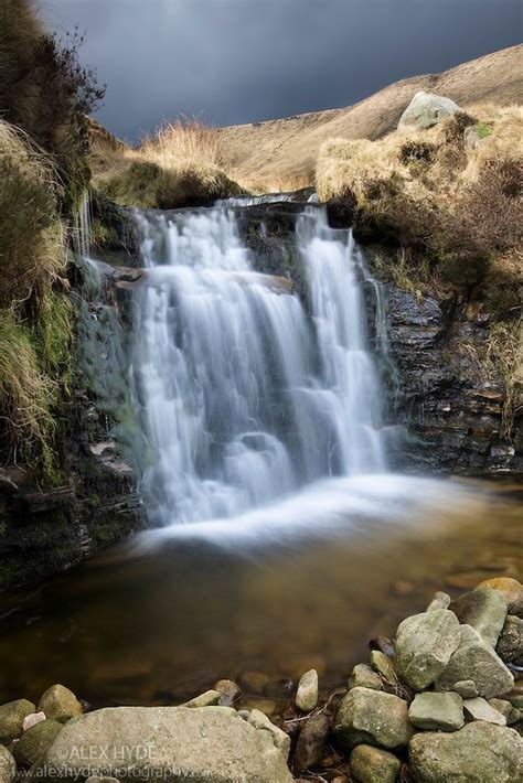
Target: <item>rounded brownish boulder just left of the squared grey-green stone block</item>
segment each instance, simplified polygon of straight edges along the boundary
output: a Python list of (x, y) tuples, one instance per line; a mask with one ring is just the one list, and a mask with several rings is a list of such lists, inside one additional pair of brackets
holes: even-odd
[(361, 687), (343, 697), (333, 727), (337, 744), (345, 750), (361, 743), (399, 748), (407, 744), (412, 733), (406, 701)]

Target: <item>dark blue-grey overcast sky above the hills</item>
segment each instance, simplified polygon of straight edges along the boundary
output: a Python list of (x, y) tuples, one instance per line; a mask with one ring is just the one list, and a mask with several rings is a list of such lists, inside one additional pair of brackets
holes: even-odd
[(405, 76), (519, 42), (521, 0), (36, 0), (86, 31), (99, 120), (137, 141), (162, 119), (252, 122), (348, 106)]

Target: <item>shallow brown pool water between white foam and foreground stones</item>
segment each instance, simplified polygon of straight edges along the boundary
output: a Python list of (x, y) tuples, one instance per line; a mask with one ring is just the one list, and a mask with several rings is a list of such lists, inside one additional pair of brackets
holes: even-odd
[[(441, 483), (446, 487), (455, 482)], [(175, 704), (256, 671), (323, 687), (366, 658), (431, 594), (521, 578), (521, 492), (471, 485), (455, 511), (365, 521), (249, 548), (164, 541), (119, 547), (0, 602), (0, 704), (62, 682), (94, 706)], [(386, 515), (386, 510), (385, 510)], [(320, 524), (320, 523), (319, 523)]]

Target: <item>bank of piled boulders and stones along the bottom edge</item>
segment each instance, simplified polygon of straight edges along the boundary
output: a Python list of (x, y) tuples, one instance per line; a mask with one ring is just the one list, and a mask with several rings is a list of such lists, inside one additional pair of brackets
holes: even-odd
[[(522, 780), (520, 582), (489, 579), (452, 602), (438, 592), (394, 640), (378, 637), (370, 647), (346, 689), (328, 697), (319, 696), (313, 669), (297, 686), (280, 684), (287, 704), (277, 718), (273, 702), (253, 706), (227, 679), (179, 706), (85, 714), (71, 690), (54, 685), (38, 705), (22, 698), (0, 707), (0, 783), (22, 774), (202, 783)], [(266, 695), (274, 687), (265, 683)]]

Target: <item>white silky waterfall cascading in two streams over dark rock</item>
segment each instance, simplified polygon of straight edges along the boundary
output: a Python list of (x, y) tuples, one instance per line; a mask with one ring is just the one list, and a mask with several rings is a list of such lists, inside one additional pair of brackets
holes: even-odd
[(299, 216), (309, 314), (287, 279), (256, 270), (234, 210), (137, 221), (148, 271), (131, 374), (151, 523), (232, 517), (320, 479), (383, 471), (370, 277), (352, 235), (322, 208)]

